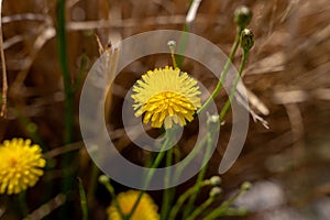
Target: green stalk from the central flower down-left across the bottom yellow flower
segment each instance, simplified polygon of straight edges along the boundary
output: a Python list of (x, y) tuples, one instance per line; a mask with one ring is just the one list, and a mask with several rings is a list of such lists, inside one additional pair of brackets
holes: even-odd
[[(167, 132), (170, 132), (170, 131), (167, 131)], [(160, 153), (157, 154), (154, 163), (152, 164), (150, 172), (146, 174), (145, 187), (147, 187), (150, 180), (152, 179), (152, 177), (154, 175), (154, 172), (155, 172), (154, 168), (156, 168), (161, 164), (161, 162), (162, 162), (162, 160), (163, 160), (163, 157), (164, 157), (164, 155), (166, 153), (164, 150), (167, 148), (167, 146), (169, 144), (169, 141), (170, 141), (170, 138), (172, 138), (172, 135), (168, 134), (167, 132), (166, 132), (166, 140), (165, 140), (164, 144), (162, 145), (162, 148), (161, 148)], [(135, 201), (135, 204), (134, 204), (131, 212), (128, 215), (128, 219), (130, 219), (133, 216), (134, 211), (138, 208), (138, 205), (139, 205), (141, 198), (142, 198), (142, 196), (144, 194), (145, 194), (145, 190), (141, 190), (140, 191), (140, 195), (139, 195), (139, 197), (138, 197), (138, 199), (136, 199), (136, 201)]]

